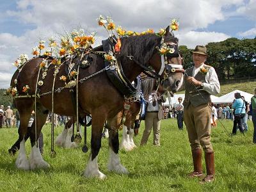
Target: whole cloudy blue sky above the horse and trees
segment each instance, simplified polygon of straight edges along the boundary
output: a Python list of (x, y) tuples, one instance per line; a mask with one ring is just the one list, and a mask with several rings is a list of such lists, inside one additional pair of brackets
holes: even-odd
[(32, 57), (32, 47), (50, 36), (83, 28), (97, 32), (95, 45), (108, 37), (97, 24), (110, 16), (116, 26), (145, 31), (166, 28), (179, 20), (179, 45), (194, 48), (230, 37), (256, 36), (256, 0), (0, 0), (0, 88), (10, 87), (21, 53)]

